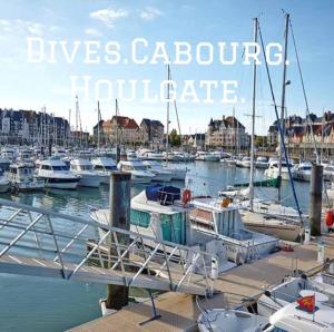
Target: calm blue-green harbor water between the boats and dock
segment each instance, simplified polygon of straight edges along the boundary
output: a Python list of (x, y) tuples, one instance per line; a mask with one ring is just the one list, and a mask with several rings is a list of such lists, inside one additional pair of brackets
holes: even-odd
[[(216, 196), (227, 185), (249, 179), (249, 169), (220, 163), (196, 162), (186, 167), (189, 169), (187, 183), (200, 195)], [(256, 170), (255, 179), (263, 178), (263, 170)], [(177, 182), (173, 185), (184, 186)], [(299, 206), (307, 213), (308, 183), (295, 183), (295, 186)], [(131, 194), (136, 195), (141, 189), (143, 185), (132, 186)], [(295, 207), (289, 182), (283, 182), (282, 192), (283, 204)], [(257, 197), (275, 199), (276, 195), (275, 188), (256, 188)], [(107, 207), (108, 187), (2, 194), (0, 197), (89, 218), (91, 207)], [(63, 227), (66, 230), (70, 225)], [(138, 294), (134, 295), (141, 295), (140, 292)], [(99, 299), (105, 295), (106, 287), (99, 284), (0, 274), (0, 331), (63, 331), (99, 318)]]

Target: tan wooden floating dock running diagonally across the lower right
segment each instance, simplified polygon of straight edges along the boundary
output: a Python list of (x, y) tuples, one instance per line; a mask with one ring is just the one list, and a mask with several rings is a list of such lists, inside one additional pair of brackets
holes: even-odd
[[(325, 257), (334, 258), (334, 236), (323, 236)], [(204, 307), (229, 307), (256, 299), (267, 287), (278, 284), (293, 270), (314, 274), (322, 268), (317, 262), (317, 244), (294, 245), (294, 252), (279, 251), (266, 258), (237, 266), (219, 275), (214, 287), (222, 293), (200, 299)], [(114, 314), (97, 319), (71, 331), (197, 331), (199, 310), (196, 297), (179, 293), (164, 293), (155, 299), (160, 318), (153, 316), (150, 300), (129, 305)], [(143, 322), (145, 322), (143, 324)]]

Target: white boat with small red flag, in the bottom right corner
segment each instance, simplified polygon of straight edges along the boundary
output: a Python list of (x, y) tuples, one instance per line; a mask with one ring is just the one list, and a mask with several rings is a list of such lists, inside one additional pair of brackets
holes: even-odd
[[(306, 296), (314, 296), (313, 310), (301, 307), (298, 300)], [(320, 281), (320, 275), (301, 275), (265, 291), (258, 299), (257, 311), (269, 318), (271, 325), (264, 331), (334, 331), (333, 303), (333, 284)]]

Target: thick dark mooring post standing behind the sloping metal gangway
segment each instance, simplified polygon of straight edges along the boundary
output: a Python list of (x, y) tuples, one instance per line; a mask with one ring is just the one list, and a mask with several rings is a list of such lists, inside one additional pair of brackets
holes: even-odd
[[(110, 175), (109, 192), (109, 224), (110, 226), (130, 230), (130, 180), (131, 174), (124, 172), (112, 172)], [(128, 245), (130, 238), (128, 235), (117, 234), (119, 244)], [(122, 250), (120, 250), (122, 252)], [(115, 238), (111, 236), (110, 256), (117, 256)], [(128, 257), (125, 256), (125, 260)], [(118, 266), (120, 270), (120, 265)], [(120, 310), (128, 304), (129, 289), (122, 285), (107, 286), (106, 307)]]

